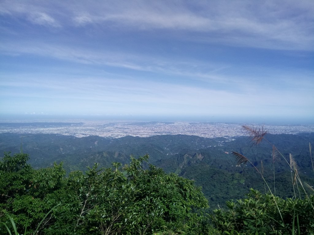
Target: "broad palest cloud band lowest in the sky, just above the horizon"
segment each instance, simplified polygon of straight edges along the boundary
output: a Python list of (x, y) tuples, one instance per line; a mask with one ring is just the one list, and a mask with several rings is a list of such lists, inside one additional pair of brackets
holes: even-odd
[[(189, 112), (198, 114), (210, 111), (221, 114), (230, 112), (252, 114), (250, 112), (254, 112), (258, 107), (262, 112), (275, 115), (278, 112), (288, 112), (291, 107), (301, 110), (311, 106), (308, 96), (306, 94), (300, 96), (297, 91), (273, 93), (271, 90), (259, 90), (249, 94), (248, 99), (248, 93), (239, 93), (236, 90), (230, 92), (210, 87), (108, 77), (56, 78), (52, 75), (42, 80), (40, 74), (24, 74), (24, 76), (16, 76), (11, 81), (2, 81), (0, 87), (4, 86), (7, 89), (1, 92), (1, 96), (18, 99), (19, 103), (25, 103), (25, 107), (29, 106), (27, 105), (29, 98), (35, 99), (36, 102), (43, 102), (45, 107), (66, 101), (67, 107), (75, 107), (79, 104), (83, 110), (88, 110), (91, 106), (105, 105), (106, 111), (119, 112), (123, 107), (129, 113), (138, 114), (145, 112), (182, 114), (187, 108)], [(19, 90), (19, 93), (15, 94), (10, 92), (11, 90)], [(240, 107), (239, 103), (241, 103)], [(153, 107), (152, 104), (158, 105)], [(100, 110), (97, 109), (97, 112)]]

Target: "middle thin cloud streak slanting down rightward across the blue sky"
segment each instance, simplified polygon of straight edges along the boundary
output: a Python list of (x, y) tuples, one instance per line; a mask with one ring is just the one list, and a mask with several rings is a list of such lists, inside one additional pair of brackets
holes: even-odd
[[(78, 64), (100, 65), (111, 68), (117, 68), (115, 76), (123, 77), (128, 70), (144, 72), (145, 80), (150, 80), (148, 74), (154, 73), (161, 76), (164, 81), (180, 82), (182, 84), (194, 81), (190, 86), (217, 87), (220, 90), (238, 89), (238, 92), (254, 94), (258, 89), (268, 87), (268, 90), (280, 88), (291, 89), (292, 87), (302, 88), (306, 91), (313, 87), (311, 81), (312, 74), (305, 74), (304, 71), (283, 71), (281, 69), (269, 70), (263, 66), (242, 65), (243, 74), (237, 74), (234, 71), (234, 65), (229, 63), (209, 62), (196, 59), (173, 60), (156, 55), (132, 54), (121, 51), (111, 50), (85, 50), (84, 48), (65, 47), (53, 44), (36, 43), (36, 45), (24, 42), (16, 46), (11, 43), (0, 45), (0, 51), (8, 50), (15, 55), (36, 55), (40, 57), (49, 57), (57, 60), (64, 60)], [(126, 69), (123, 73), (120, 68)], [(300, 76), (302, 74), (302, 76)], [(114, 75), (114, 74), (113, 74)], [(137, 79), (140, 79), (137, 75)], [(261, 81), (272, 80), (271, 84), (265, 82), (261, 86)], [(298, 80), (295, 80), (298, 77)], [(171, 78), (171, 79), (170, 79)], [(174, 80), (174, 79), (179, 80)], [(132, 77), (128, 76), (128, 79)], [(201, 82), (200, 84), (198, 82)], [(307, 93), (307, 92), (306, 92)]]

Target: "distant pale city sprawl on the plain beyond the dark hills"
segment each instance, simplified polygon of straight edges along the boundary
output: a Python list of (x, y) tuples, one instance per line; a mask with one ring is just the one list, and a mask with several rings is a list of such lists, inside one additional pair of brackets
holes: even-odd
[[(252, 126), (248, 124), (249, 126)], [(261, 127), (261, 125), (255, 125)], [(297, 134), (314, 132), (314, 125), (269, 125), (264, 129), (271, 134)], [(196, 135), (207, 138), (245, 136), (240, 123), (206, 122), (136, 122), (136, 121), (87, 121), (0, 123), (0, 133), (62, 134), (76, 137), (97, 135), (120, 138), (123, 136), (149, 137), (165, 134)]]

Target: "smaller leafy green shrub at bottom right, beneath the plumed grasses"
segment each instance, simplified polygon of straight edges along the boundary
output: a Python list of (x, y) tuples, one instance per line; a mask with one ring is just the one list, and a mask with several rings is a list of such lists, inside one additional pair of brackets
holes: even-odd
[[(307, 199), (281, 199), (251, 189), (246, 199), (227, 201), (228, 210), (216, 209), (215, 226), (226, 234), (313, 234), (314, 214)], [(310, 197), (312, 204), (314, 196)]]

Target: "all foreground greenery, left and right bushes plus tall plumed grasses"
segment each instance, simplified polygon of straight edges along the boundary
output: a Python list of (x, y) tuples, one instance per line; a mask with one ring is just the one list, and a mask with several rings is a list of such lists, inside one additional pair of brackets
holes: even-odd
[[(253, 144), (266, 140), (263, 129), (248, 130)], [(66, 175), (62, 164), (35, 170), (27, 154), (6, 153), (0, 161), (0, 234), (314, 234), (312, 188), (300, 179), (293, 156), (288, 161), (272, 147), (273, 178), (263, 163), (257, 168), (233, 152), (237, 165), (252, 165), (265, 193), (251, 189), (213, 212), (194, 181), (147, 164), (148, 155)], [(280, 156), (289, 166), (291, 198), (276, 196)]]

